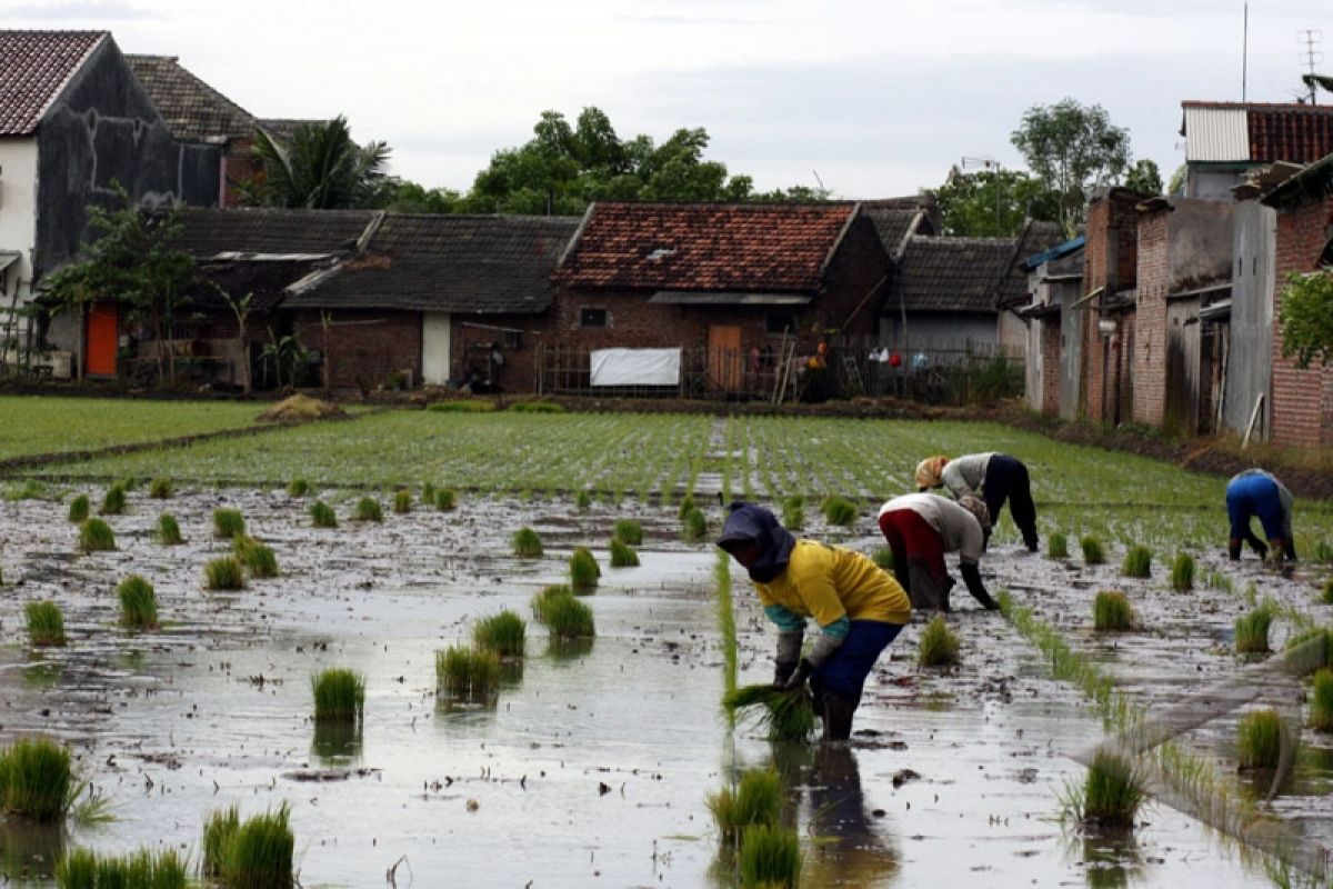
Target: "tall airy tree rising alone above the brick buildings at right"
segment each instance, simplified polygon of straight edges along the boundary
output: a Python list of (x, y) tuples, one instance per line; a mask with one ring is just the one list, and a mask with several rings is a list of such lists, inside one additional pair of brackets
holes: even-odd
[(1073, 99), (1033, 105), (1009, 140), (1028, 168), (1060, 195), (1060, 224), (1070, 236), (1084, 219), (1089, 192), (1118, 181), (1129, 167), (1129, 131), (1113, 125), (1101, 105), (1084, 108)]

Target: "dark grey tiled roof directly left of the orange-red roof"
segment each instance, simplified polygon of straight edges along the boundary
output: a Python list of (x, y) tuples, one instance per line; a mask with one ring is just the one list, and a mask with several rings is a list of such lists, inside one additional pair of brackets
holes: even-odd
[(537, 313), (579, 220), (559, 216), (385, 216), (364, 255), (284, 303), (289, 308)]

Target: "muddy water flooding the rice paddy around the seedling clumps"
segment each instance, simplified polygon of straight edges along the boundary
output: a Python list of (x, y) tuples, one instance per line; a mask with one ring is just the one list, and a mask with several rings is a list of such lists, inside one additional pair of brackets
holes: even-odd
[[(187, 492), (159, 504), (137, 492), (131, 514), (111, 518), (120, 549), (87, 557), (69, 554), (75, 530), (57, 504), (0, 504), (0, 740), (68, 741), (116, 814), (64, 833), (0, 828), (7, 876), (49, 873), (72, 845), (195, 852), (213, 808), (251, 814), (287, 801), (307, 886), (383, 885), (395, 865), (400, 886), (726, 885), (705, 796), (736, 768), (776, 762), (806, 837), (808, 885), (1266, 885), (1170, 809), (1150, 812), (1129, 840), (1062, 829), (1057, 790), (1081, 773), (1064, 753), (1094, 741), (1100, 724), (965, 594), (954, 600), (961, 668), (918, 672), (909, 628), (868, 688), (849, 750), (776, 749), (744, 725), (733, 734), (717, 713), (713, 553), (677, 538), (674, 510), (464, 500), (455, 513), (361, 525), (345, 518), (351, 498), (329, 498), (343, 526), (316, 530), (308, 501), (283, 493)], [(240, 593), (201, 588), (204, 561), (227, 550), (209, 537), (220, 505), (241, 509), (283, 577)], [(161, 506), (187, 545), (152, 541)], [(636, 512), (643, 565), (609, 569), (611, 526)], [(544, 558), (507, 554), (523, 524), (543, 534)], [(549, 652), (529, 624), (521, 676), (493, 708), (441, 706), (435, 652), (468, 638), (477, 616), (527, 613), (533, 592), (563, 580), (576, 544), (604, 566), (587, 600), (599, 629), (591, 650)], [(1016, 594), (1054, 618), (1088, 613), (1080, 602), (1098, 580), (1004, 552), (986, 569), (1025, 581), (1032, 589)], [(115, 626), (113, 585), (132, 570), (157, 588), (157, 632)], [(762, 681), (773, 637), (746, 581), (736, 594), (742, 681)], [(1176, 613), (1166, 596), (1160, 610)], [(63, 605), (67, 648), (27, 645), (21, 608), (35, 598)], [(1220, 642), (1190, 640), (1200, 628), (1224, 636), (1238, 606), (1220, 592), (1200, 601), (1217, 610), (1168, 638), (1225, 673), (1228, 656), (1209, 648)], [(1168, 681), (1172, 646), (1161, 648), (1125, 668), (1146, 697), (1180, 690)], [(367, 718), (353, 737), (317, 737), (309, 720), (309, 676), (325, 666), (365, 674)], [(1222, 746), (1220, 733), (1202, 737)], [(1328, 758), (1309, 758), (1301, 786), (1326, 792)], [(1314, 798), (1292, 802), (1293, 818), (1321, 824)]]

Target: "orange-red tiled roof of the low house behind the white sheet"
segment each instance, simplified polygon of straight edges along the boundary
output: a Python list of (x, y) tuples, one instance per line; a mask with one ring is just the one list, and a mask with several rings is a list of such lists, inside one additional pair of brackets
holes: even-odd
[(593, 204), (557, 271), (575, 287), (813, 291), (856, 204)]

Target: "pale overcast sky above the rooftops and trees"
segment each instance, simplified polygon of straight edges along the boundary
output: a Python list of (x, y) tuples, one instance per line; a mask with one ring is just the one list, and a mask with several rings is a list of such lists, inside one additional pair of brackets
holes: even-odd
[[(1238, 101), (1244, 57), (1241, 0), (0, 0), (0, 23), (109, 29), (259, 117), (343, 113), (459, 191), (544, 109), (597, 105), (621, 139), (706, 128), (762, 191), (912, 195), (962, 157), (1021, 167), (1022, 112), (1065, 96), (1166, 179), (1181, 100)], [(1306, 29), (1333, 73), (1333, 0), (1249, 4), (1249, 100), (1294, 101)]]

